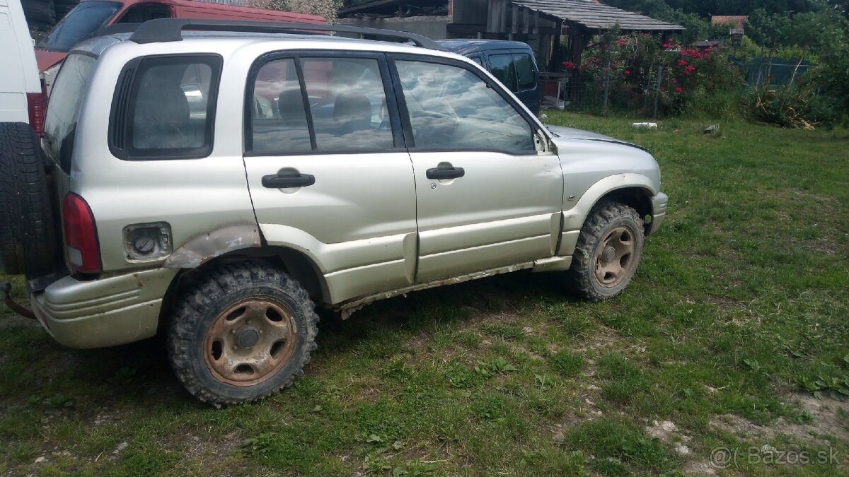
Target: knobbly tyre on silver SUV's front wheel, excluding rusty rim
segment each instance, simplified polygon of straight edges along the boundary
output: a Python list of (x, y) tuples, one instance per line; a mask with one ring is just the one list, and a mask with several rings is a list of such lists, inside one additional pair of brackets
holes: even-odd
[[(632, 235), (633, 252), (627, 262), (627, 271), (620, 280), (611, 286), (601, 283), (596, 275), (599, 260), (599, 247), (610, 233), (625, 227)], [(622, 293), (637, 271), (643, 256), (645, 242), (643, 219), (637, 210), (618, 202), (604, 200), (593, 206), (587, 221), (581, 227), (581, 234), (572, 255), (572, 264), (567, 272), (569, 291), (581, 298), (592, 301), (607, 300)]]

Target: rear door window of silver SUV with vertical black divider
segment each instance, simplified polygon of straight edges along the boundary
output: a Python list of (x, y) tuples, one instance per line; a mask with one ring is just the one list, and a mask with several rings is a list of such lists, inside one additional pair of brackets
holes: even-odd
[(286, 58), (262, 65), (248, 91), (248, 154), (394, 149), (380, 63)]

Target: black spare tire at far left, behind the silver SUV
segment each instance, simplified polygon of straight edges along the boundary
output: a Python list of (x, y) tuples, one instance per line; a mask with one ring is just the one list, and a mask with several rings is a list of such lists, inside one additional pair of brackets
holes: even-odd
[(0, 272), (45, 272), (57, 256), (55, 220), (36, 132), (0, 123)]

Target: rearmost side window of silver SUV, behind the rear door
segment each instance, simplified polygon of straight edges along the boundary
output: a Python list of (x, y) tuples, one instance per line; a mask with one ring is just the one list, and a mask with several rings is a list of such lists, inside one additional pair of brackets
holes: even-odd
[(127, 65), (112, 105), (112, 153), (125, 160), (209, 155), (220, 74), (215, 55), (148, 57)]

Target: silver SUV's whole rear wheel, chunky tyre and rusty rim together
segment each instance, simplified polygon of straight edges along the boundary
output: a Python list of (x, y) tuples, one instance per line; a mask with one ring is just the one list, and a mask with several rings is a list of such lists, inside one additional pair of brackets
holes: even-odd
[(303, 374), (318, 333), (312, 300), (262, 263), (208, 273), (179, 298), (168, 355), (189, 393), (214, 406), (256, 401)]

